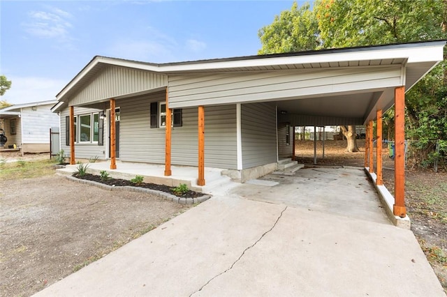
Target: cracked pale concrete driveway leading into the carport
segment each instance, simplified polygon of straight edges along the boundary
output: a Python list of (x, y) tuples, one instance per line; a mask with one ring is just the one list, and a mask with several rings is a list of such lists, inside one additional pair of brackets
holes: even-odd
[[(214, 194), (36, 296), (446, 296), (365, 174), (306, 170)], [(325, 187), (305, 182), (314, 174)], [(342, 209), (338, 190), (360, 208)]]

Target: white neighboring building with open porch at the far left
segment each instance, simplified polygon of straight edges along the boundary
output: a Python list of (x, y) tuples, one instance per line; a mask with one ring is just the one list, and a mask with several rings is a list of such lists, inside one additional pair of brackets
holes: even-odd
[(0, 109), (0, 128), (8, 141), (0, 150), (22, 153), (50, 151), (50, 128), (59, 128), (59, 116), (51, 112), (57, 100), (30, 102)]

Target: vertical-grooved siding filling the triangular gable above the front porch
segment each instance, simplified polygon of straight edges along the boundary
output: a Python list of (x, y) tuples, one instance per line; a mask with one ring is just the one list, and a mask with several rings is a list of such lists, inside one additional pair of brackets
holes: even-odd
[(157, 89), (168, 85), (167, 75), (145, 70), (109, 66), (85, 88), (70, 99), (70, 105), (82, 105), (97, 100)]

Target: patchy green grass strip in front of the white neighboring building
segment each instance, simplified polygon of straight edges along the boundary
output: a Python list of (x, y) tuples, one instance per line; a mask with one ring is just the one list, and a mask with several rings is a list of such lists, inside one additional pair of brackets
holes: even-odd
[(53, 160), (36, 160), (21, 162), (2, 162), (0, 165), (0, 181), (19, 178), (34, 178), (54, 174)]

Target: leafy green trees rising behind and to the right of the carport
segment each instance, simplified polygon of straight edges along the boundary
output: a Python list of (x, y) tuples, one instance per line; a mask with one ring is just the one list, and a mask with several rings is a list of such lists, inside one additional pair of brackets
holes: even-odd
[[(309, 4), (305, 4), (298, 8), (293, 3), (290, 11), (274, 17), (272, 24), (258, 33), (262, 43), (258, 53), (447, 38), (446, 0), (316, 0), (313, 7), (314, 10), (310, 10)], [(298, 41), (293, 41), (294, 38)], [(407, 135), (416, 144), (423, 135), (446, 139), (443, 132), (434, 133), (446, 131), (446, 89), (447, 64), (444, 62), (406, 94)], [(385, 125), (393, 123), (388, 118)], [(392, 130), (391, 127), (384, 128)], [(418, 148), (425, 149), (422, 146)]]

